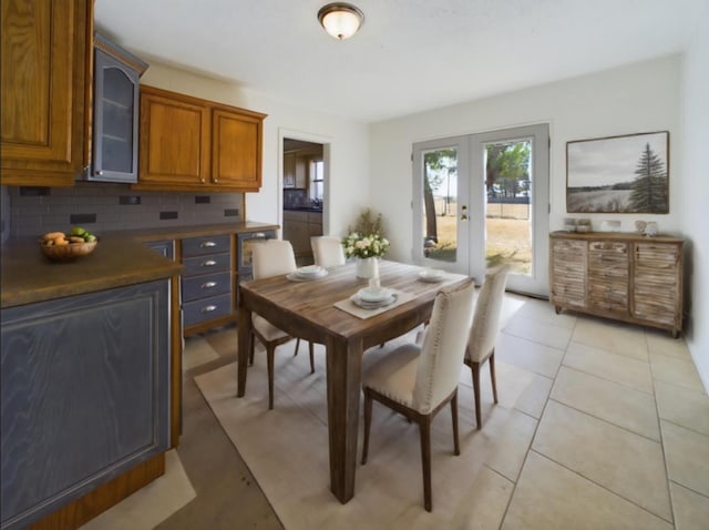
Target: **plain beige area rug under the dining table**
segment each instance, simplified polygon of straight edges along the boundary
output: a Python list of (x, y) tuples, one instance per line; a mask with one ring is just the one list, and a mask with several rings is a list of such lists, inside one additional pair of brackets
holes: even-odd
[[(393, 349), (404, 336), (372, 348), (371, 363)], [(532, 375), (497, 363), (500, 404), (492, 404), (484, 377), (484, 428), (476, 430), (470, 369), (461, 370), (459, 422), (461, 455), (453, 456), (451, 416), (441, 411), (432, 426), (433, 512), (423, 509), (418, 427), (374, 404), (369, 459), (359, 463), (360, 419), (354, 497), (341, 504), (329, 489), (325, 350), (316, 347), (316, 373), (310, 374), (307, 347), (294, 357), (294, 343), (278, 348), (275, 408), (268, 410), (266, 356), (257, 351), (248, 369), (246, 396), (236, 398), (236, 364), (195, 377), (219, 424), (237, 448), (284, 527), (288, 530), (477, 528), (484, 496), (471, 490), (490, 483), (491, 462), (520, 458), (500, 455), (515, 437), (507, 428), (514, 404)], [(481, 472), (482, 471), (482, 472)], [(504, 507), (502, 507), (504, 509)]]

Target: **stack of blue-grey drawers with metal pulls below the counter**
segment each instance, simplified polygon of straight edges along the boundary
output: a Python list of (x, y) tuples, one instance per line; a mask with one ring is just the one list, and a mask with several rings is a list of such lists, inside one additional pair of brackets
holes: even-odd
[(236, 319), (230, 234), (182, 241), (185, 336)]

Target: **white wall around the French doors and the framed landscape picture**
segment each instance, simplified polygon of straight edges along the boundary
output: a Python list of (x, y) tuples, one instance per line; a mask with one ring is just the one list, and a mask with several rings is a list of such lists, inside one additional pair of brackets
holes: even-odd
[(594, 214), (623, 222), (657, 221), (664, 233), (681, 233), (680, 57), (674, 55), (422, 112), (370, 125), (371, 206), (383, 213), (391, 257), (411, 256), (411, 145), (531, 123), (551, 124), (549, 228), (563, 227), (566, 213), (566, 142), (650, 131), (670, 132), (670, 213), (668, 215)]

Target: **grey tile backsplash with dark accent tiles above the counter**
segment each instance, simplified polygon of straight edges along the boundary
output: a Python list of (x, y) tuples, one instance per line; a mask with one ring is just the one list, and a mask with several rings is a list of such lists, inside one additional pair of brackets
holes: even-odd
[[(82, 225), (92, 233), (243, 221), (240, 193), (145, 192), (124, 184), (2, 186), (2, 241)], [(9, 206), (9, 207), (6, 207)], [(9, 215), (8, 215), (9, 211)]]

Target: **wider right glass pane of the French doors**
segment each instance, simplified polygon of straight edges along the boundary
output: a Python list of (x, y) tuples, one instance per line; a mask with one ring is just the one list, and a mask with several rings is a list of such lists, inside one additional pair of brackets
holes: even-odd
[(485, 161), (485, 259), (532, 273), (532, 142), (490, 143)]

